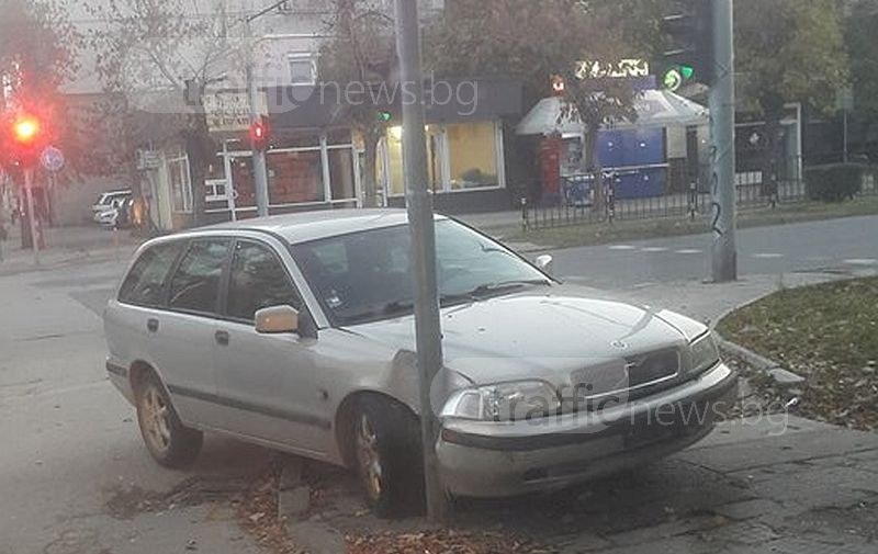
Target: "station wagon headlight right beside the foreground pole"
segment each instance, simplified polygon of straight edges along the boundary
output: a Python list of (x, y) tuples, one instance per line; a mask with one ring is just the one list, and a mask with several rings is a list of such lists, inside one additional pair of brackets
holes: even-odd
[(481, 421), (516, 421), (556, 414), (558, 391), (543, 381), (515, 381), (464, 388), (451, 395), (443, 417)]

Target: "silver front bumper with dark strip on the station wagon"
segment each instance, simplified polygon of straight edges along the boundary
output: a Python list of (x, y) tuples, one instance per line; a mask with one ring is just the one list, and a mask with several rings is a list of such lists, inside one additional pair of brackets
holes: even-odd
[(705, 438), (738, 399), (718, 364), (674, 388), (600, 412), (540, 421), (446, 420), (437, 455), (446, 489), (504, 497), (564, 488), (673, 454)]

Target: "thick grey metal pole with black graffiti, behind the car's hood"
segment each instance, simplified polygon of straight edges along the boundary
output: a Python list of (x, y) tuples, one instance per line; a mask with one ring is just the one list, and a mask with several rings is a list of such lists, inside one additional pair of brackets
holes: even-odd
[(735, 246), (736, 206), (734, 182), (734, 34), (733, 0), (713, 2), (713, 52), (717, 79), (710, 88), (712, 147), (713, 282), (738, 279)]

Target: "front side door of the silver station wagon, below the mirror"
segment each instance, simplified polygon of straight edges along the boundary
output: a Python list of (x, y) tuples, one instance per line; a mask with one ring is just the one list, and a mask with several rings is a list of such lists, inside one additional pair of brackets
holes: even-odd
[(225, 321), (214, 344), (217, 394), (228, 429), (311, 456), (322, 456), (331, 428), (320, 383), (317, 341), (306, 332), (260, 335), (258, 309), (290, 305), (308, 316), (278, 252), (238, 239), (228, 276)]

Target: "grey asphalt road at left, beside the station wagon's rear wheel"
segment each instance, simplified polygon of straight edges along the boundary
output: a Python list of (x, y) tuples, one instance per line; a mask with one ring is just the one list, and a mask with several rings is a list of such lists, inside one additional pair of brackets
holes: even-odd
[(106, 381), (99, 314), (122, 271), (0, 278), (0, 554), (260, 552), (223, 500), (267, 451), (210, 438), (194, 467), (162, 470)]

